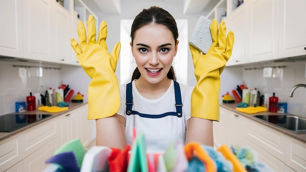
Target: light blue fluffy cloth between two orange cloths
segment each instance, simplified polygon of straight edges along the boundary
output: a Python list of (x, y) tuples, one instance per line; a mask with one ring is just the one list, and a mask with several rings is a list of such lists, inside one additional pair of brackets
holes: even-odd
[(233, 165), (231, 162), (226, 160), (224, 156), (213, 147), (201, 145), (207, 154), (215, 161), (217, 166), (217, 172), (233, 172)]

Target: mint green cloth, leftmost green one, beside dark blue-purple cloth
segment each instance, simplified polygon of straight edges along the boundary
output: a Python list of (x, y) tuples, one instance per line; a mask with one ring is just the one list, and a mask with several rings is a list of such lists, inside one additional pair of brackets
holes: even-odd
[(66, 142), (61, 148), (59, 148), (54, 155), (58, 155), (60, 153), (72, 151), (77, 160), (78, 167), (81, 169), (81, 165), (83, 162), (84, 155), (86, 153), (85, 148), (83, 147), (81, 140), (79, 138)]

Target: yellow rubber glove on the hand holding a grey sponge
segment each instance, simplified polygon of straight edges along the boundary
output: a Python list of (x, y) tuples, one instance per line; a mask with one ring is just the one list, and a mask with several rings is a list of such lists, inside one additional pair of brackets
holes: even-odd
[(210, 25), (213, 43), (207, 54), (189, 45), (195, 66), (197, 85), (191, 95), (191, 117), (219, 121), (220, 74), (231, 57), (234, 33), (226, 37), (224, 21), (214, 19)]

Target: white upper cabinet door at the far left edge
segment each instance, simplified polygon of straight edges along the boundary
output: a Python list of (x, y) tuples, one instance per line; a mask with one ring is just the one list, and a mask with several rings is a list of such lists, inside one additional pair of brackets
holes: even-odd
[(0, 0), (0, 56), (23, 58), (22, 1)]

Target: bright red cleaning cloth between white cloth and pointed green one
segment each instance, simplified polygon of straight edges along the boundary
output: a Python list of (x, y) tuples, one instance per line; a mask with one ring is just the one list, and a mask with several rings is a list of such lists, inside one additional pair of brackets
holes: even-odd
[(127, 145), (123, 151), (117, 148), (110, 148), (109, 155), (109, 172), (127, 172), (129, 164), (130, 145)]

